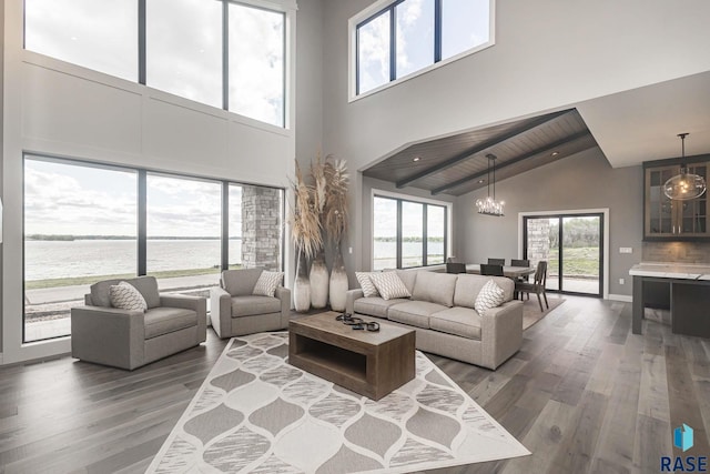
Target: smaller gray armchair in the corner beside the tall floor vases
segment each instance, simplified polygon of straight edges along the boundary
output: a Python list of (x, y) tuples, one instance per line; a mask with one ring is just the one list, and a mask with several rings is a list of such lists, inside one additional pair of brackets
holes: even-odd
[[(288, 327), (291, 290), (274, 296), (252, 294), (263, 269), (225, 270), (220, 286), (210, 289), (212, 327), (222, 339)], [(283, 283), (283, 282), (282, 282)]]

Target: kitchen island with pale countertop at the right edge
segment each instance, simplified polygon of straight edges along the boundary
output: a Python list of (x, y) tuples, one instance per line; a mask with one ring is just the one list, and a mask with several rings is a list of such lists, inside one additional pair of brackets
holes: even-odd
[(631, 332), (641, 334), (643, 285), (667, 283), (670, 292), (670, 320), (674, 334), (710, 337), (710, 265), (668, 262), (641, 262), (629, 270), (633, 276)]

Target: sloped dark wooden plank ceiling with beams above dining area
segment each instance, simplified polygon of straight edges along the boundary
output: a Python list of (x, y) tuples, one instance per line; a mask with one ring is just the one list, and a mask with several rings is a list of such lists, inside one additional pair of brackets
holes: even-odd
[(412, 144), (363, 174), (397, 188), (462, 195), (488, 184), (488, 154), (496, 157), (499, 182), (592, 147), (587, 124), (569, 109)]

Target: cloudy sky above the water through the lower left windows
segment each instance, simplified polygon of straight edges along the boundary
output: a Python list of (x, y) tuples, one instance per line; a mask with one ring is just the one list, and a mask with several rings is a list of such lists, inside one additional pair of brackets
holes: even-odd
[[(134, 172), (28, 159), (24, 233), (136, 235)], [(241, 188), (230, 188), (230, 234), (241, 235)], [(219, 236), (219, 183), (148, 175), (148, 235)]]

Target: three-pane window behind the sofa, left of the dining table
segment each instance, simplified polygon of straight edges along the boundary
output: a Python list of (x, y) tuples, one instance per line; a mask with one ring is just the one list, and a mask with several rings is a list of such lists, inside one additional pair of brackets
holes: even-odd
[(442, 264), (447, 256), (447, 208), (375, 196), (373, 270)]

